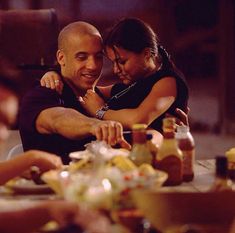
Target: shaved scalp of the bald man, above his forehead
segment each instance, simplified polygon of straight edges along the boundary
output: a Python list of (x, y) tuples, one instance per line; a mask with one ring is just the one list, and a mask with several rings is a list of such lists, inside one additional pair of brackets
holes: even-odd
[(67, 40), (72, 35), (78, 37), (81, 35), (96, 35), (101, 38), (101, 35), (96, 27), (83, 21), (77, 21), (70, 23), (61, 30), (58, 37), (58, 49), (64, 50), (66, 48)]

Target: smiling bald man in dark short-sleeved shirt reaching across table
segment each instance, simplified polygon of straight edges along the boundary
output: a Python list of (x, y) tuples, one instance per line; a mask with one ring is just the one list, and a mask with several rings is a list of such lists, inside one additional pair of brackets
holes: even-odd
[(101, 74), (102, 50), (99, 31), (86, 22), (71, 23), (60, 32), (57, 61), (63, 92), (39, 85), (24, 96), (19, 117), (24, 150), (55, 153), (68, 163), (68, 154), (84, 149), (94, 137), (129, 147), (120, 123), (90, 118), (78, 101)]

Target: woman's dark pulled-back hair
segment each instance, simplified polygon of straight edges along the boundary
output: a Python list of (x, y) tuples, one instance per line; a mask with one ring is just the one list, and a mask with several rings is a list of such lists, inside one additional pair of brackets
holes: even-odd
[(168, 53), (159, 44), (159, 39), (153, 29), (137, 18), (120, 20), (109, 31), (104, 44), (105, 47), (117, 46), (134, 53), (141, 53), (145, 48), (149, 48), (153, 57), (161, 59), (163, 68), (170, 68), (173, 65)]

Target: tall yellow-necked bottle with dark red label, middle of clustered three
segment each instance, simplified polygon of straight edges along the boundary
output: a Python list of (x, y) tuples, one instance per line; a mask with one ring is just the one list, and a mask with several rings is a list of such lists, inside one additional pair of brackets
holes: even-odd
[(163, 142), (159, 147), (156, 167), (167, 172), (165, 185), (179, 185), (183, 179), (182, 152), (175, 138), (175, 118), (163, 119)]

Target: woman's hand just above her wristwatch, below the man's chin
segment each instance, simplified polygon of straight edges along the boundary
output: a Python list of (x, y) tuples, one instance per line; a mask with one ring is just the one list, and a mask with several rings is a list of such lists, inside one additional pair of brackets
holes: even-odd
[(81, 104), (90, 116), (95, 117), (96, 111), (103, 107), (105, 102), (95, 91), (88, 90)]

